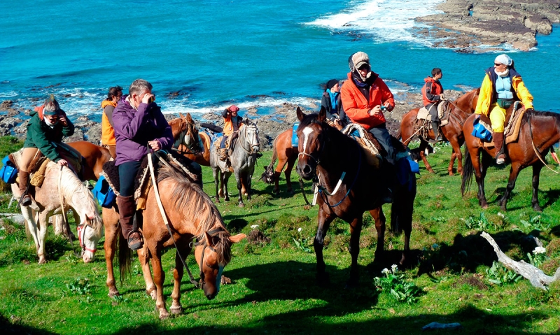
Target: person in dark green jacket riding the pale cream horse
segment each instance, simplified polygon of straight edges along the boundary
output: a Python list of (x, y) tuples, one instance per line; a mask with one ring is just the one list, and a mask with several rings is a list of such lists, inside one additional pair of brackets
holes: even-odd
[(52, 94), (43, 106), (36, 107), (35, 111), (29, 113), (29, 116), (31, 116), (31, 120), (27, 124), (27, 134), (18, 171), (22, 206), (29, 206), (32, 202), (31, 197), (27, 194), (29, 163), (38, 152), (41, 152), (52, 162), (60, 166), (68, 166), (68, 162), (64, 159), (64, 152), (60, 152), (57, 148), (62, 148), (60, 146), (62, 137), (74, 134), (73, 123), (60, 109), (58, 101)]

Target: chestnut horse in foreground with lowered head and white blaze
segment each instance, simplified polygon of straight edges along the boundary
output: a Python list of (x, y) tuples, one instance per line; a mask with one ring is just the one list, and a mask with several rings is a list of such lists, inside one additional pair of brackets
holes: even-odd
[[(193, 248), (193, 239), (197, 239), (195, 258), (199, 264), (201, 286), (204, 295), (208, 299), (214, 299), (220, 291), (220, 283), (223, 268), (231, 260), (231, 245), (245, 238), (245, 234), (231, 236), (225, 229), (223, 218), (218, 208), (212, 203), (210, 197), (204, 193), (200, 185), (193, 183), (184, 173), (179, 173), (171, 166), (163, 166), (158, 171), (158, 189), (165, 190), (160, 192), (160, 201), (169, 221), (169, 230), (162, 219), (162, 213), (158, 209), (158, 199), (155, 198), (153, 187), (148, 192), (146, 210), (144, 210), (144, 225), (142, 234), (144, 236), (144, 248), (139, 250), (139, 258), (144, 271), (146, 280), (146, 292), (148, 295), (155, 295), (156, 308), (160, 312), (160, 318), (165, 319), (169, 316), (163, 299), (163, 283), (165, 271), (162, 269), (161, 255), (166, 247), (176, 245), (175, 267), (173, 270), (174, 288), (172, 292), (173, 303), (170, 308), (172, 313), (182, 313), (181, 307), (181, 280), (183, 278), (183, 261)], [(118, 214), (111, 213), (111, 210), (104, 208), (104, 224), (108, 238), (114, 241), (116, 235), (120, 235), (118, 229)], [(107, 215), (107, 216), (105, 216)], [(112, 231), (109, 234), (109, 231)], [(173, 236), (169, 234), (172, 231)], [(124, 239), (122, 236), (120, 237)], [(122, 241), (120, 244), (126, 244)], [(106, 254), (115, 254), (115, 250), (107, 250)], [(113, 247), (114, 248), (114, 247)], [(127, 247), (125, 247), (127, 248)], [(121, 249), (122, 250), (122, 249)], [(151, 257), (153, 268), (153, 280), (151, 278), (148, 258)], [(109, 271), (107, 285), (109, 295), (118, 294), (114, 286), (112, 258), (107, 258), (107, 269)], [(124, 273), (125, 266), (130, 266), (130, 262), (120, 262), (121, 273)], [(155, 289), (154, 289), (155, 287)], [(155, 294), (154, 294), (155, 290)]]

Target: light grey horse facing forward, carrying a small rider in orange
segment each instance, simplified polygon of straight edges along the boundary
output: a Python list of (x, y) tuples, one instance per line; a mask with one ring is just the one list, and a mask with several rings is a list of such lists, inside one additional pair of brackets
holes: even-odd
[[(258, 128), (257, 124), (251, 122), (250, 120), (245, 120), (244, 124), (239, 127), (239, 136), (237, 137), (237, 142), (234, 144), (232, 155), (230, 155), (230, 162), (232, 164), (231, 168), (235, 174), (235, 180), (237, 180), (237, 190), (239, 191), (239, 207), (244, 207), (243, 199), (241, 198), (243, 183), (245, 180), (246, 195), (247, 200), (251, 200), (251, 179), (253, 178), (253, 173), (255, 172), (255, 163), (257, 162), (257, 153), (260, 149), (260, 143), (258, 139)], [(226, 169), (225, 162), (222, 162), (218, 158), (218, 150), (216, 150), (216, 145), (212, 145), (210, 149), (210, 166), (214, 172), (214, 183), (216, 185), (216, 203), (220, 202), (218, 187), (219, 183), (223, 180), (224, 185), (224, 200), (229, 201), (230, 197), (228, 194), (228, 180), (231, 176), (230, 169)], [(220, 176), (220, 172), (223, 172), (223, 177)]]

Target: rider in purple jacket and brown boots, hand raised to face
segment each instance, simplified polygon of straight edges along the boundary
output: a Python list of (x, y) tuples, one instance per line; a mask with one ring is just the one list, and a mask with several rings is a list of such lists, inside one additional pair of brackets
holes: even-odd
[(148, 145), (157, 151), (169, 150), (173, 144), (171, 127), (154, 100), (151, 83), (137, 79), (130, 85), (129, 94), (118, 101), (113, 111), (117, 152), (115, 165), (118, 166), (120, 181), (117, 197), (120, 227), (132, 250), (138, 250), (144, 244), (138, 227), (132, 227), (136, 209), (134, 180), (141, 161), (148, 153)]

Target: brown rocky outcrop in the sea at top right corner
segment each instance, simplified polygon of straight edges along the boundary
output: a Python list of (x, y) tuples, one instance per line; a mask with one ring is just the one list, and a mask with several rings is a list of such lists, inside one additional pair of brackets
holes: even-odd
[(444, 13), (416, 18), (430, 26), (416, 34), (458, 52), (503, 51), (505, 44), (527, 51), (537, 46), (536, 34), (548, 35), (560, 22), (558, 0), (447, 0), (437, 8)]

